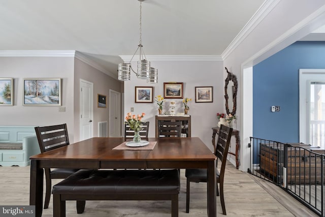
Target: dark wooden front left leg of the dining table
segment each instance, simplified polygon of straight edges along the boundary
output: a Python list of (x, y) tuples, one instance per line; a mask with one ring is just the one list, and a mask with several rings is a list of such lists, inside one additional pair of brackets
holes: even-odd
[(35, 216), (43, 212), (43, 168), (38, 167), (37, 160), (30, 161), (29, 205), (35, 205)]

